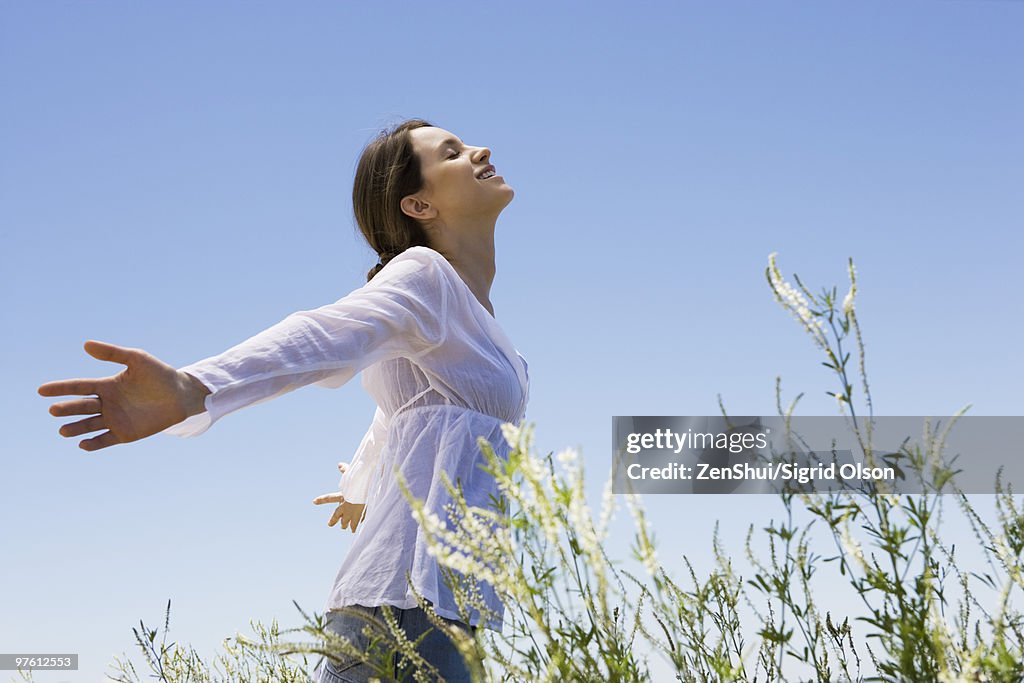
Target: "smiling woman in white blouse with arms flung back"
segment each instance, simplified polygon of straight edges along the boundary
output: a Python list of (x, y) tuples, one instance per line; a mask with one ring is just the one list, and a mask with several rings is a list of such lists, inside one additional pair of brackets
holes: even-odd
[[(175, 370), (140, 349), (88, 341), (93, 357), (127, 366), (103, 379), (39, 387), (54, 416), (91, 415), (63, 436), (105, 429), (79, 443), (97, 451), (156, 433), (198, 435), (233, 411), (307, 384), (336, 388), (360, 371), (377, 401), (373, 423), (341, 489), (330, 524), (361, 531), (328, 599), (329, 628), (358, 640), (364, 622), (339, 611), (378, 614), (391, 605), (415, 640), (431, 625), (413, 589), (457, 627), (501, 629), (493, 587), (477, 582), (487, 609), (460, 621), (452, 590), (427, 552), (396, 478), (441, 519), (451, 501), (441, 473), (467, 502), (488, 507), (498, 490), (476, 439), (507, 456), (501, 425), (520, 422), (529, 395), (525, 359), (494, 317), (495, 224), (514, 191), (489, 164), (490, 151), (421, 119), (382, 131), (359, 159), (352, 189), (356, 223), (380, 262), (368, 283), (333, 304), (295, 312), (237, 346)], [(347, 470), (347, 471), (346, 471)], [(365, 506), (365, 507), (364, 507)], [(449, 681), (468, 680), (454, 645), (434, 630), (421, 654)], [(323, 681), (361, 681), (358, 660), (323, 661)]]

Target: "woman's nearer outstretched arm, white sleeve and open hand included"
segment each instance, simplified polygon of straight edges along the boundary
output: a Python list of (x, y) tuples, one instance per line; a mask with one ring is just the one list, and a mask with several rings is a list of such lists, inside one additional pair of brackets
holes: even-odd
[[(51, 382), (43, 395), (96, 394), (53, 407), (93, 415), (65, 436), (110, 431), (83, 441), (88, 451), (164, 432), (196, 436), (223, 416), (307, 384), (337, 388), (369, 366), (416, 357), (440, 345), (452, 287), (443, 256), (412, 248), (366, 286), (338, 301), (301, 310), (226, 351), (174, 369), (140, 349), (95, 343), (86, 350), (128, 366), (116, 377)], [(98, 355), (97, 355), (98, 354)], [(197, 393), (205, 392), (205, 393)]]

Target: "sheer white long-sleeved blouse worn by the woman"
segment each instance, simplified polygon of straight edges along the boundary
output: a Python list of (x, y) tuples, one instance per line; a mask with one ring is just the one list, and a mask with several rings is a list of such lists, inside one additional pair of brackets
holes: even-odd
[[(307, 384), (340, 387), (365, 371), (362, 386), (378, 408), (341, 492), (367, 503), (366, 518), (325, 610), (415, 607), (411, 581), (438, 614), (461, 618), (393, 471), (397, 467), (411, 493), (442, 520), (451, 496), (440, 472), (461, 482), (470, 506), (489, 507), (499, 492), (478, 467), (486, 460), (476, 439), (483, 436), (508, 457), (501, 425), (525, 417), (529, 375), (525, 358), (447, 259), (427, 247), (408, 249), (335, 303), (292, 313), (180, 370), (211, 393), (204, 413), (164, 430), (175, 436), (202, 434), (228, 413)], [(498, 614), (482, 626), (500, 631), (501, 600), (490, 585), (475, 585)], [(475, 609), (470, 624), (480, 625)]]

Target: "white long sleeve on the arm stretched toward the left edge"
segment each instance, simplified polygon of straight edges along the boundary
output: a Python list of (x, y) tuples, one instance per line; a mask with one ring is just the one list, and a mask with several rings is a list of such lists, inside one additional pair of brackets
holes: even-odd
[(210, 392), (206, 411), (164, 433), (202, 434), (223, 416), (307, 384), (338, 388), (361, 370), (444, 341), (451, 283), (440, 254), (412, 248), (335, 303), (292, 313), (226, 351), (179, 370)]

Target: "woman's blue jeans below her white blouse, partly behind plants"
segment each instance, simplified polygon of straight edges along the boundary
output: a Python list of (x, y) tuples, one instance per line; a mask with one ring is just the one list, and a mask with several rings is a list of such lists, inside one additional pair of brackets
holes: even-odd
[[(384, 623), (384, 614), (381, 607), (350, 605), (349, 608), (355, 609), (381, 624)], [(469, 669), (466, 667), (466, 663), (463, 660), (458, 648), (456, 648), (447, 636), (438, 631), (430, 623), (422, 607), (413, 607), (411, 609), (391, 607), (391, 612), (398, 621), (399, 628), (411, 642), (415, 642), (423, 633), (430, 632), (420, 643), (419, 647), (417, 647), (417, 652), (437, 669), (441, 678), (447, 681), (447, 683), (470, 683), (472, 679), (469, 675)], [(366, 651), (370, 641), (362, 634), (362, 629), (368, 624), (365, 618), (360, 618), (358, 615), (346, 614), (342, 611), (329, 611), (327, 618), (328, 630), (345, 636), (357, 649)], [(466, 626), (462, 622), (444, 621), (463, 630), (476, 631), (476, 627)], [(398, 654), (394, 654), (391, 657), (395, 671), (397, 671), (398, 658)], [(374, 670), (366, 665), (362, 659), (343, 655), (341, 661), (333, 661), (328, 657), (324, 657), (316, 667), (314, 680), (317, 683), (366, 683), (366, 681), (370, 680), (371, 676), (376, 675), (378, 674), (375, 674)], [(400, 676), (401, 672), (398, 675)], [(407, 677), (407, 680), (411, 680), (411, 675)]]

